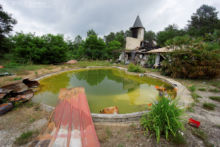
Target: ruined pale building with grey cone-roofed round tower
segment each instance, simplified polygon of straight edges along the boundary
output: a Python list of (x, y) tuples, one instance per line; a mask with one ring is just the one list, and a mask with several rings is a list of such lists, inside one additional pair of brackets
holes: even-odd
[(133, 27), (130, 28), (130, 31), (131, 37), (126, 37), (126, 47), (120, 54), (119, 61), (125, 64), (140, 64), (141, 66), (146, 67), (149, 65), (149, 57), (154, 54), (155, 62), (153, 66), (158, 67), (161, 59), (164, 58), (161, 53), (168, 52), (168, 49), (158, 48), (156, 44), (153, 46), (148, 45), (148, 42), (144, 40), (145, 28), (142, 25), (139, 16), (137, 16)]

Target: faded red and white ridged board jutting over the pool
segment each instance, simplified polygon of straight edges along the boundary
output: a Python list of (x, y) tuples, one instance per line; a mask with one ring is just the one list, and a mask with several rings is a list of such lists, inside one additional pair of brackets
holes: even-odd
[(60, 90), (47, 129), (31, 146), (100, 147), (84, 88)]

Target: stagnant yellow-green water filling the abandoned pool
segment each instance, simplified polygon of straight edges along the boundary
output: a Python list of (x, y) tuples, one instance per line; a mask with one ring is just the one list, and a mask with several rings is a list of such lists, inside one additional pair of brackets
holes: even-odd
[(173, 87), (150, 77), (129, 75), (114, 68), (80, 69), (53, 75), (40, 80), (34, 102), (56, 106), (61, 88), (85, 87), (90, 111), (99, 113), (105, 107), (117, 106), (119, 113), (146, 110), (147, 104), (157, 100), (155, 86), (165, 87), (175, 97)]

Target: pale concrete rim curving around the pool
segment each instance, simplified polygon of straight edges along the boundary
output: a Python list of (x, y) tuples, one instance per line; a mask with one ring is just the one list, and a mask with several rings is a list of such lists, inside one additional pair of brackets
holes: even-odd
[[(69, 69), (69, 70), (64, 70), (64, 71), (60, 71), (60, 72), (55, 72), (55, 73), (50, 73), (47, 75), (44, 75), (40, 78), (37, 78), (35, 80), (40, 80), (46, 77), (50, 77), (52, 75), (56, 75), (56, 74), (60, 74), (63, 72), (67, 72), (67, 71), (74, 71), (74, 70), (79, 70), (79, 69), (99, 69), (99, 68), (117, 68), (119, 70), (123, 70), (126, 72), (126, 74), (130, 74), (130, 75), (138, 75), (138, 76), (148, 76), (148, 77), (152, 77), (152, 78), (156, 78), (159, 79), (161, 81), (164, 81), (170, 85), (172, 85), (174, 88), (177, 89), (177, 95), (176, 95), (176, 99), (178, 99), (178, 105), (180, 108), (187, 108), (190, 106), (191, 103), (193, 103), (193, 99), (191, 97), (191, 94), (189, 92), (189, 90), (183, 86), (181, 83), (171, 79), (171, 78), (167, 78), (165, 76), (162, 75), (157, 75), (154, 73), (133, 73), (133, 72), (128, 72), (127, 68), (123, 68), (123, 67), (118, 67), (118, 66), (109, 66), (109, 67), (105, 67), (105, 66), (89, 66), (86, 68), (75, 68), (75, 69)], [(43, 109), (47, 110), (47, 111), (52, 111), (54, 109), (54, 107), (52, 106), (48, 106), (45, 104), (41, 103), (41, 106)], [(140, 119), (140, 117), (147, 113), (148, 111), (141, 111), (141, 112), (134, 112), (134, 113), (126, 113), (126, 114), (99, 114), (99, 113), (92, 113), (92, 118), (94, 122), (133, 122), (133, 121), (138, 121)]]

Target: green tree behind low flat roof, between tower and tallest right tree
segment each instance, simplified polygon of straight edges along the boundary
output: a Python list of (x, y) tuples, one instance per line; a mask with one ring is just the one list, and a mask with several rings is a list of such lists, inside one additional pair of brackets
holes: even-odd
[(165, 42), (169, 39), (172, 39), (176, 36), (183, 36), (185, 34), (185, 31), (179, 30), (177, 25), (169, 25), (164, 29), (164, 31), (160, 31), (157, 33), (157, 44), (159, 46), (165, 46)]

